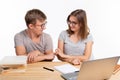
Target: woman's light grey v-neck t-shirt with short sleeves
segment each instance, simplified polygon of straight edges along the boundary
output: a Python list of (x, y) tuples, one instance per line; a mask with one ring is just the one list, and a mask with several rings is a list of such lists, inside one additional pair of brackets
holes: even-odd
[[(73, 43), (70, 40), (70, 37), (67, 31), (62, 31), (59, 35), (59, 40), (62, 40), (64, 42), (64, 53), (65, 54), (83, 55), (86, 43), (89, 41), (93, 41), (93, 37), (91, 34), (89, 34), (85, 40), (79, 40), (77, 43)], [(93, 55), (91, 55), (90, 59), (93, 59)]]

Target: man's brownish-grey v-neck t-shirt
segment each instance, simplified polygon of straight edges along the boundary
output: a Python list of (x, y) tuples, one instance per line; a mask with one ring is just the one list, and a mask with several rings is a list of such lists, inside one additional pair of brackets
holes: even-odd
[(42, 33), (40, 37), (40, 43), (34, 43), (30, 37), (28, 37), (26, 31), (21, 31), (17, 33), (14, 37), (15, 47), (24, 46), (27, 53), (39, 50), (42, 53), (45, 53), (47, 50), (53, 49), (52, 38), (47, 33)]

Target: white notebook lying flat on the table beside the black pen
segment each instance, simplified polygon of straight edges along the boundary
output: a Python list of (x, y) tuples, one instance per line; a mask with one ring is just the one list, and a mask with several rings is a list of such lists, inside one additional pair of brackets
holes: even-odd
[(61, 72), (62, 74), (72, 73), (72, 72), (79, 71), (78, 68), (74, 67), (71, 64), (63, 64), (63, 65), (60, 65), (60, 66), (54, 66), (54, 68), (57, 71)]

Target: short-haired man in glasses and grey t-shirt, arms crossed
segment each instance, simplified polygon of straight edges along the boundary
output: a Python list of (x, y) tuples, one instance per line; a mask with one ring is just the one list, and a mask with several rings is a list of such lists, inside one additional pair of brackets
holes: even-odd
[(28, 56), (28, 63), (54, 59), (51, 36), (44, 33), (46, 15), (38, 10), (29, 10), (25, 15), (27, 29), (14, 37), (16, 55)]

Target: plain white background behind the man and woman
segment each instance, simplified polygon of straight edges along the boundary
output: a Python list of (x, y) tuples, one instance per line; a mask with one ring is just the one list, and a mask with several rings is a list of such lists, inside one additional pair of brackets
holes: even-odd
[(45, 32), (52, 36), (54, 49), (59, 33), (67, 29), (68, 14), (80, 8), (87, 12), (88, 25), (94, 37), (95, 58), (120, 55), (119, 4), (119, 0), (1, 0), (0, 59), (15, 55), (14, 35), (26, 28), (24, 16), (33, 8), (47, 15)]

